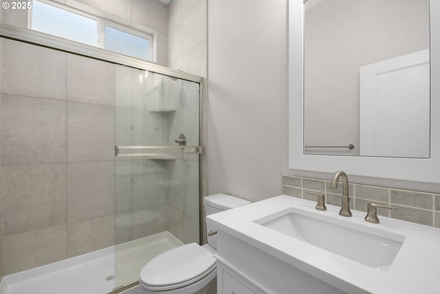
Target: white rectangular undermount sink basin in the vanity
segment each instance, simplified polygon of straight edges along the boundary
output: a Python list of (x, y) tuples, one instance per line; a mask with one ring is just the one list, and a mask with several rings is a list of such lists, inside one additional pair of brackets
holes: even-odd
[(255, 222), (379, 271), (388, 271), (405, 240), (404, 235), (295, 208)]

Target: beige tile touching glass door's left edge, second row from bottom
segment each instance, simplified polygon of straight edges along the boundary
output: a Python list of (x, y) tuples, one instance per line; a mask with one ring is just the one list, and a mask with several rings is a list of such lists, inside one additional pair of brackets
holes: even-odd
[(67, 163), (67, 222), (109, 216), (115, 211), (113, 161)]

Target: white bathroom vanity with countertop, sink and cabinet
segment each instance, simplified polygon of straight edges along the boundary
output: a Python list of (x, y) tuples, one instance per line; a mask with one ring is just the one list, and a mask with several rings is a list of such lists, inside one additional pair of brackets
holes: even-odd
[(218, 293), (440, 293), (440, 229), (277, 196), (208, 216)]

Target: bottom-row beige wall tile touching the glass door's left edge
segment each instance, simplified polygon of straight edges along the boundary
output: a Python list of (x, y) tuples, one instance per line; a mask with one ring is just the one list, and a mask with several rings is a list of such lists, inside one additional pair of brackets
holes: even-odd
[(115, 217), (72, 222), (67, 226), (67, 257), (89, 253), (115, 244)]

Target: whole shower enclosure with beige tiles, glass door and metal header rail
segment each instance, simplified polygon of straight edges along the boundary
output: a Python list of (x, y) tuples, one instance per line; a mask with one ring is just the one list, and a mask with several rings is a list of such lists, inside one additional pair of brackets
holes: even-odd
[(1, 36), (0, 293), (87, 293), (89, 280), (104, 285), (94, 293), (118, 291), (159, 253), (201, 242), (201, 78)]

